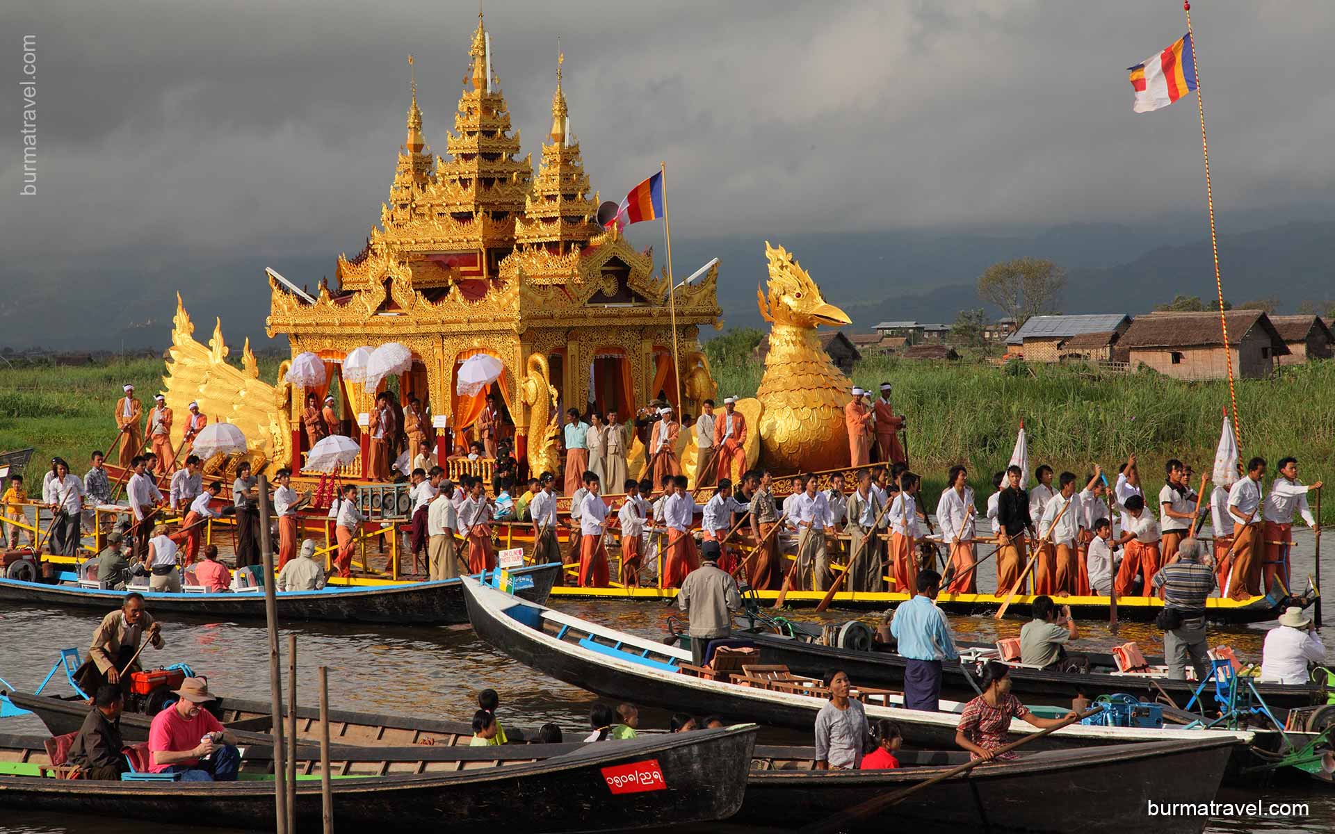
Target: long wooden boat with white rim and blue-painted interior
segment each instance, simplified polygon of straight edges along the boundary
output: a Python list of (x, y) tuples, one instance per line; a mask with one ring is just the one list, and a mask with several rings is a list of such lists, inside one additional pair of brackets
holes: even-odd
[[(804, 694), (801, 683), (769, 687), (764, 681), (734, 677), (730, 682), (689, 674), (690, 653), (661, 642), (617, 631), (517, 599), (493, 588), (465, 580), (469, 619), (483, 641), (521, 663), (558, 681), (579, 686), (605, 698), (693, 714), (720, 714), (734, 721), (753, 721), (777, 727), (810, 731), (822, 698)], [(873, 690), (853, 679), (864, 701), (868, 719), (898, 722), (904, 742), (913, 747), (951, 749), (964, 703), (940, 702), (939, 713), (902, 707), (902, 694)], [(1039, 707), (1041, 709), (1041, 707)], [(1011, 722), (1011, 741), (1037, 733), (1028, 723)], [(1105, 727), (1072, 725), (1035, 739), (1040, 750), (1068, 750), (1151, 741), (1192, 741), (1231, 738), (1234, 765), (1258, 763), (1255, 745), (1262, 751), (1278, 751), (1283, 737), (1278, 731), (1204, 730), (1199, 727)], [(1288, 733), (1296, 745), (1312, 734)]]

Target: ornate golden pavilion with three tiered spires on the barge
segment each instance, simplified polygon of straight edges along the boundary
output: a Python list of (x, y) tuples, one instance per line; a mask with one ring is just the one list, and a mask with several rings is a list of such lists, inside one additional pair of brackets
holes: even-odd
[[(635, 251), (594, 219), (598, 196), (589, 196), (561, 88), (563, 57), (551, 129), (533, 176), (531, 159), (515, 159), (519, 133), (511, 135), (481, 15), (469, 55), (470, 76), (446, 136), (449, 159), (433, 157), (426, 144), (414, 77), (407, 141), (379, 227), (358, 255), (339, 256), (338, 288), (322, 282), (314, 303), (271, 275), (267, 332), (286, 334), (294, 355), (312, 351), (326, 360), (328, 390), (340, 400), (346, 427), (374, 398), (342, 379), (347, 354), (388, 342), (407, 346), (414, 364), (398, 387), (405, 399), (417, 395), (429, 406), (439, 452), (449, 451), (441, 430), (466, 435), (485, 395), (455, 394), (461, 363), (491, 354), (505, 364), (493, 390), (513, 416), (519, 454), (526, 450), (533, 468), (555, 470), (551, 436), (563, 408), (585, 411), (595, 403), (603, 412), (629, 415), (658, 391), (677, 399), (669, 276), (654, 272), (651, 250)], [(716, 279), (717, 267), (674, 292), (676, 372), (686, 399), (677, 406), (693, 414), (714, 394), (697, 334), (702, 324), (718, 324)], [(279, 387), (284, 384), (280, 379)], [(304, 395), (275, 390), (266, 398), (287, 411), (286, 419), (256, 427), (271, 459), (299, 466)], [(284, 432), (286, 443), (279, 439)]]

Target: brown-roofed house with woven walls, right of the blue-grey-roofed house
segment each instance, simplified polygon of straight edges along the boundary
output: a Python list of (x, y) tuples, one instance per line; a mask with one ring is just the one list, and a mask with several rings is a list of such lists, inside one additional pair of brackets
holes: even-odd
[(1279, 331), (1260, 310), (1232, 310), (1228, 348), (1223, 346), (1218, 312), (1152, 312), (1137, 316), (1117, 340), (1132, 370), (1145, 366), (1176, 379), (1223, 379), (1230, 354), (1234, 375), (1270, 376), (1279, 356), (1290, 354)]

